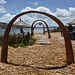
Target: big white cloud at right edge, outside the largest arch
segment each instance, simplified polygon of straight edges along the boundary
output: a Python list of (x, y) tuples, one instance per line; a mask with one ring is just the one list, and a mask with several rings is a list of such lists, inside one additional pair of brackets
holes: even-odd
[(69, 7), (69, 10), (57, 8), (54, 14), (66, 25), (66, 23), (75, 19), (75, 8)]

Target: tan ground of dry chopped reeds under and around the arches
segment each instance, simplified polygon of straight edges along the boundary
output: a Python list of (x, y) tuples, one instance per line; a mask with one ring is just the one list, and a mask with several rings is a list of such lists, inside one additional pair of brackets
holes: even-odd
[[(35, 34), (38, 40), (32, 46), (9, 47), (8, 63), (0, 62), (0, 75), (75, 75), (75, 64), (66, 64), (66, 50), (61, 34), (51, 33), (50, 45), (39, 44), (41, 35)], [(72, 46), (75, 57), (75, 40), (72, 40)]]

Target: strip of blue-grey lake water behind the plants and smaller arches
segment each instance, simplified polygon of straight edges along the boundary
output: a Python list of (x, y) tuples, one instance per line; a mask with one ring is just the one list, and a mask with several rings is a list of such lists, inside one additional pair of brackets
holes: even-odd
[[(53, 28), (49, 28), (53, 29)], [(18, 34), (20, 33), (20, 29), (14, 29), (15, 33)], [(31, 28), (23, 28), (23, 31), (27, 33), (28, 31), (31, 33)], [(47, 31), (47, 28), (45, 28), (45, 31)], [(5, 29), (0, 29), (0, 35), (4, 35)], [(43, 33), (43, 28), (35, 28), (34, 33)], [(13, 30), (11, 29), (10, 35), (13, 34)]]

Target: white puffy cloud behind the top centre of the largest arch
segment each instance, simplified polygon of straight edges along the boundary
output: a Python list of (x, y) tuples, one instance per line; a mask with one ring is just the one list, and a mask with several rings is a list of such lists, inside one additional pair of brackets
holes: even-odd
[[(50, 14), (53, 14), (48, 8), (46, 7), (38, 7), (36, 9), (33, 9), (31, 7), (26, 7), (25, 9), (22, 9), (21, 12), (25, 12), (25, 11), (31, 11), (31, 10), (35, 10), (35, 11), (42, 11), (42, 12), (46, 12), (46, 13), (50, 13)], [(41, 15), (41, 14), (37, 14), (37, 13), (33, 13), (31, 14), (32, 16), (24, 16), (22, 17), (25, 22), (28, 22), (29, 24), (31, 24), (33, 21), (35, 20), (45, 20), (45, 21), (49, 21), (48, 23), (50, 23), (51, 21), (50, 20), (47, 20), (48, 17), (47, 16), (44, 16), (44, 15)], [(50, 24), (51, 25), (51, 24)]]

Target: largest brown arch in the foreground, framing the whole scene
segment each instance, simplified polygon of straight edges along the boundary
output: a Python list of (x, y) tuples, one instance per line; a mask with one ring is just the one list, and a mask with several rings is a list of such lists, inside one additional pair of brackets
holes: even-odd
[(27, 11), (27, 12), (23, 12), (20, 13), (18, 15), (16, 15), (8, 24), (5, 33), (4, 33), (4, 39), (3, 39), (3, 46), (2, 46), (2, 51), (1, 51), (1, 62), (2, 63), (7, 63), (7, 56), (8, 56), (8, 39), (9, 39), (9, 33), (11, 30), (11, 27), (13, 25), (13, 23), (15, 22), (15, 20), (17, 18), (19, 18), (22, 15), (28, 14), (28, 13), (39, 13), (39, 14), (43, 14), (51, 19), (53, 19), (61, 28), (62, 32), (63, 32), (63, 36), (64, 36), (64, 40), (65, 40), (65, 48), (66, 48), (66, 61), (67, 63), (74, 63), (74, 56), (73, 56), (73, 49), (72, 49), (72, 44), (71, 44), (71, 40), (69, 37), (69, 34), (64, 26), (64, 24), (55, 16), (45, 13), (45, 12), (40, 12), (40, 11)]

